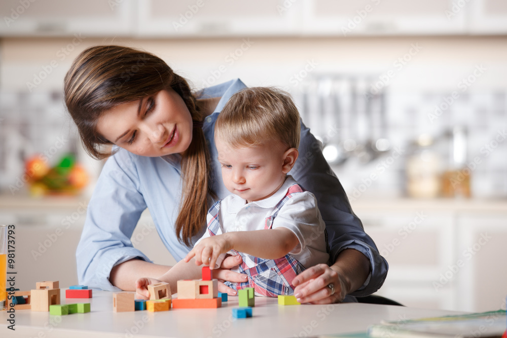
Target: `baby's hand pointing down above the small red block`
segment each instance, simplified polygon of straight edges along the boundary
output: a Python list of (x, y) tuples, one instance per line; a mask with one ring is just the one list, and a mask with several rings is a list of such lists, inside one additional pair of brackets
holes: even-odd
[(194, 246), (183, 260), (188, 263), (192, 257), (195, 257), (196, 265), (209, 265), (210, 269), (214, 269), (216, 259), (219, 255), (233, 249), (231, 241), (228, 239), (228, 236), (225, 235), (227, 234), (203, 239)]

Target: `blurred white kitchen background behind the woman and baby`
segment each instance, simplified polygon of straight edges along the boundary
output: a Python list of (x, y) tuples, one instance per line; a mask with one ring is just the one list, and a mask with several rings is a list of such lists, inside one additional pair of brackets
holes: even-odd
[[(196, 89), (240, 78), (291, 93), (390, 264), (379, 294), (505, 309), (507, 2), (3, 0), (0, 18), (0, 222), (18, 224), (21, 288), (77, 284), (103, 163), (80, 145), (63, 77), (85, 48), (121, 44)], [(41, 166), (53, 176), (35, 181)], [(134, 245), (171, 264), (153, 230), (147, 212)]]

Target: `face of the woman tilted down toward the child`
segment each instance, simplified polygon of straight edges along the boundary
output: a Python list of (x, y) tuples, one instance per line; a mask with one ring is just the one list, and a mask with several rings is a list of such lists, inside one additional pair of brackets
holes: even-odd
[(129, 152), (148, 157), (183, 153), (192, 141), (192, 117), (174, 90), (123, 103), (103, 112), (98, 132)]

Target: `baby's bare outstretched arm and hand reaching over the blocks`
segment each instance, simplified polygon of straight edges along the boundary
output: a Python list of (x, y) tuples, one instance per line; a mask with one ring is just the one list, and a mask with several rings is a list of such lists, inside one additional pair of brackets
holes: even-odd
[(232, 249), (264, 259), (276, 259), (291, 252), (298, 244), (298, 237), (283, 227), (233, 231), (202, 239), (183, 260), (188, 262), (195, 257), (196, 265), (209, 265), (213, 269), (218, 256)]

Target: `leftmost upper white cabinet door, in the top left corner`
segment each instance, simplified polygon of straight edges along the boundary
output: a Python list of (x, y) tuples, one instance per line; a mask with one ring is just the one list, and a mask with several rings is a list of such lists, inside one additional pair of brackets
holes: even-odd
[(0, 35), (130, 35), (134, 9), (134, 0), (2, 0)]

